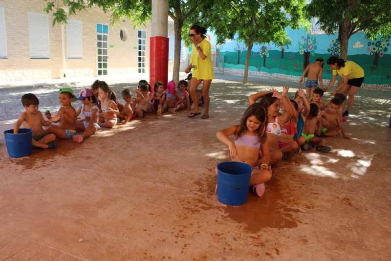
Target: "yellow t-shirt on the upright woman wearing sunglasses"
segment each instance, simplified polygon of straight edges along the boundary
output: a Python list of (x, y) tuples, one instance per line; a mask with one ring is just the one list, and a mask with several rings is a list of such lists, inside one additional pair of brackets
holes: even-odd
[(193, 66), (193, 77), (198, 80), (215, 79), (212, 65), (211, 43), (204, 39), (198, 45), (202, 52), (206, 55), (206, 58), (205, 60), (202, 60), (202, 58), (198, 55), (197, 48), (195, 48), (195, 46), (192, 47), (191, 63)]

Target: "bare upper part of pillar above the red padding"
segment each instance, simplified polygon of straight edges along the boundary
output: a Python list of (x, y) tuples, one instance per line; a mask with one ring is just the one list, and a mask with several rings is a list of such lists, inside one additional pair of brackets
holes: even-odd
[(151, 37), (168, 37), (168, 0), (152, 0)]

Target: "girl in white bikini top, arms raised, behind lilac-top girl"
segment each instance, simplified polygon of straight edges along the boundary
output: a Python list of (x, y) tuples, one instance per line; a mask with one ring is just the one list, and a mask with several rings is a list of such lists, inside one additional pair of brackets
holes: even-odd
[[(277, 90), (272, 89), (271, 92), (262, 91), (251, 95), (249, 97), (250, 105), (260, 98), (262, 98), (260, 102), (261, 105), (267, 109), (268, 113), (266, 132), (270, 150), (270, 165), (272, 167), (277, 167), (282, 159), (282, 152), (280, 151), (278, 140), (283, 126), (289, 122), (293, 115), (293, 111), (290, 106), (286, 106), (286, 113), (281, 115), (279, 112), (281, 102), (284, 104), (290, 104), (290, 100), (287, 97), (282, 97), (282, 94)], [(263, 152), (260, 152), (260, 156), (261, 158), (263, 157)]]

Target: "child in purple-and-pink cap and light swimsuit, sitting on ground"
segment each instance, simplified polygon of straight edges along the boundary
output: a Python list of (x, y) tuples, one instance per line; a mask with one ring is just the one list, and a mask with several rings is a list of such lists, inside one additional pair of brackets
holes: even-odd
[(76, 142), (83, 142), (85, 138), (92, 136), (101, 127), (97, 124), (99, 119), (99, 108), (96, 106), (97, 100), (90, 89), (83, 88), (79, 97), (79, 101), (82, 101), (82, 106), (76, 111), (76, 117), (82, 113), (84, 115), (83, 122), (76, 122), (77, 130), (84, 131), (83, 135), (73, 135), (72, 140)]

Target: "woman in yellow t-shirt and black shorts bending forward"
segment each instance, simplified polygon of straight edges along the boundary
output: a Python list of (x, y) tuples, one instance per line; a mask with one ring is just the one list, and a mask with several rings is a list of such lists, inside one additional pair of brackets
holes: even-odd
[[(354, 95), (364, 82), (364, 70), (360, 65), (354, 62), (338, 59), (335, 56), (331, 56), (327, 59), (327, 65), (333, 69), (333, 78), (327, 85), (326, 91), (334, 85), (337, 75), (344, 77), (344, 83), (330, 92), (330, 94), (334, 95), (342, 89), (342, 93), (345, 94), (346, 97), (349, 96), (349, 98), (346, 99), (348, 100), (348, 107), (343, 114), (344, 117), (348, 117), (349, 111), (354, 104)], [(341, 104), (342, 109), (345, 107), (346, 100)]]

